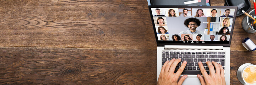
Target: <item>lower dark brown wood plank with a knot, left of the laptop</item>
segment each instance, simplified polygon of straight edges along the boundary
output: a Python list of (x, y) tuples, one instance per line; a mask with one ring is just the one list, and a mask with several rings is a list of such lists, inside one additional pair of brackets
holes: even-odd
[(156, 50), (0, 47), (0, 84), (156, 84)]

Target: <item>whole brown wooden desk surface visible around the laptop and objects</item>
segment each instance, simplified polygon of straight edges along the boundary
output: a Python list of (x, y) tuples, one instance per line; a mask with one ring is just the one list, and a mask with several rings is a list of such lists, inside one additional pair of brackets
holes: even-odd
[[(230, 46), (232, 85), (241, 84), (240, 65), (256, 64), (241, 44), (256, 42), (241, 27), (244, 17)], [(156, 84), (152, 28), (146, 0), (1, 0), (0, 84)]]

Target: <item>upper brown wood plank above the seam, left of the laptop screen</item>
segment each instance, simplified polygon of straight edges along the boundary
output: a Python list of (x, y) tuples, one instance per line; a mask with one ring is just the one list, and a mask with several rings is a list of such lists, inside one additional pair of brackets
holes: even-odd
[(0, 9), (0, 46), (156, 47), (146, 0), (4, 0)]

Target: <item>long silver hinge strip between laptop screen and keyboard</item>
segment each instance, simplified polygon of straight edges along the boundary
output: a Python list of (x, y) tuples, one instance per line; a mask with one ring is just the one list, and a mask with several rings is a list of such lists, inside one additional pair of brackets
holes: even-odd
[(223, 50), (223, 46), (165, 45), (165, 50)]

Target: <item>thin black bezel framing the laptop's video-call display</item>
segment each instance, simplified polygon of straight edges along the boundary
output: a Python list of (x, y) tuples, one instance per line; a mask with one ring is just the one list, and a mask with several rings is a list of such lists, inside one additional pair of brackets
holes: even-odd
[[(151, 8), (234, 8), (235, 12), (234, 12), (234, 16), (233, 16), (233, 26), (232, 26), (232, 30), (231, 30), (231, 34), (230, 34), (230, 40), (228, 42), (228, 44), (214, 44), (214, 43), (183, 43), (183, 41), (160, 41), (158, 40), (158, 36), (157, 36), (157, 31), (156, 31), (156, 26), (154, 24), (154, 19), (153, 19), (153, 15), (152, 15), (152, 10)], [(157, 46), (164, 46), (164, 45), (202, 45), (202, 46), (223, 46), (223, 47), (230, 47), (230, 43), (232, 40), (232, 35), (233, 35), (233, 30), (234, 30), (234, 25), (235, 25), (235, 16), (236, 16), (236, 11), (237, 11), (238, 6), (148, 6), (149, 9), (149, 13), (151, 16), (151, 21), (152, 21), (152, 25), (153, 25), (153, 29), (154, 29), (154, 33), (155, 33), (155, 37), (156, 37), (156, 41), (157, 41)], [(175, 42), (181, 42), (181, 43), (175, 43)], [(201, 41), (200, 41), (201, 42)]]

